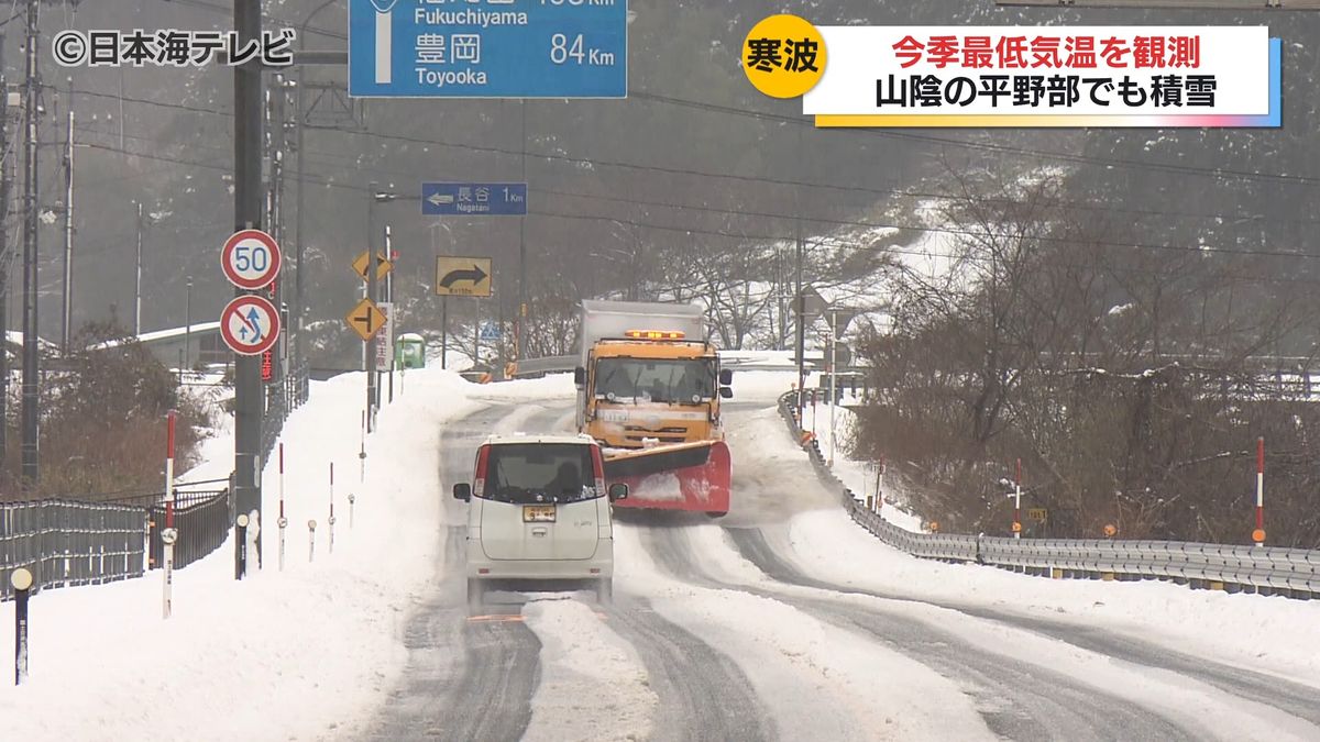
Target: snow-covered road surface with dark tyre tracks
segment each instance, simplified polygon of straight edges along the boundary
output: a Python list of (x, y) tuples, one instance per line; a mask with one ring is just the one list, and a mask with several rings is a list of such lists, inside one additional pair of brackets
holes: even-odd
[[(570, 391), (451, 424), (444, 486), (470, 477), (471, 444), (486, 432), (569, 428)], [(462, 555), (445, 549), (437, 591), (446, 598), (420, 611), (414, 626), (425, 628), (411, 632), (432, 643), (413, 650), (368, 737), (1320, 737), (1320, 668), (1307, 643), (1320, 639), (1307, 624), (1317, 606), (911, 560), (818, 489), (770, 397), (739, 400), (727, 419), (734, 512), (710, 522), (624, 511), (612, 606), (590, 593), (570, 603), (532, 594), (463, 619)], [(462, 507), (446, 506), (447, 523), (461, 523)], [(1206, 632), (1180, 636), (1173, 621), (1216, 598), (1239, 605), (1206, 617), (1209, 626), (1254, 614), (1290, 638), (1262, 644), (1247, 631), (1241, 643), (1221, 640), (1214, 658), (1199, 654)], [(1298, 656), (1276, 656), (1282, 647)], [(1279, 661), (1253, 668), (1253, 655)], [(437, 669), (449, 680), (436, 683)]]

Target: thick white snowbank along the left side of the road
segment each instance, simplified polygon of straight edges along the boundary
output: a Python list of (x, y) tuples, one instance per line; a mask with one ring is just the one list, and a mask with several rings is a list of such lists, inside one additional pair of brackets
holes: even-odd
[[(279, 569), (280, 482), (272, 454), (263, 477), (263, 569), (247, 580), (234, 580), (231, 539), (176, 572), (169, 619), (161, 615), (160, 570), (33, 597), (30, 677), (17, 688), (0, 685), (5, 737), (306, 739), (334, 735), (374, 710), (407, 658), (407, 610), (441, 556), (441, 426), (480, 407), (469, 399), (478, 388), (486, 389), (453, 372), (409, 371), (367, 437), (363, 479), (363, 375), (313, 383), (309, 404), (293, 412), (281, 437), (285, 569)], [(186, 479), (227, 477), (232, 450), (223, 433), (206, 441), (210, 461)], [(331, 462), (333, 553), (326, 522)], [(356, 496), (351, 515), (350, 492)], [(312, 561), (309, 519), (317, 520)], [(0, 610), (3, 647), (13, 646), (11, 605)]]

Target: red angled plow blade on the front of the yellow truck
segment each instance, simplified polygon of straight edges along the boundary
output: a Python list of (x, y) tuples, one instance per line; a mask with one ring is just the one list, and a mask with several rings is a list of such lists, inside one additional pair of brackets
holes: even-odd
[(639, 450), (607, 450), (605, 478), (623, 482), (628, 496), (615, 507), (729, 512), (729, 446), (723, 441), (673, 444)]

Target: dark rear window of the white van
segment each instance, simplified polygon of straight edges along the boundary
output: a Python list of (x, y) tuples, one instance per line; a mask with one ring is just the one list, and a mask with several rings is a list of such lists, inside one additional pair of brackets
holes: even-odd
[(502, 444), (486, 462), (484, 498), (564, 503), (598, 498), (591, 448), (581, 444)]

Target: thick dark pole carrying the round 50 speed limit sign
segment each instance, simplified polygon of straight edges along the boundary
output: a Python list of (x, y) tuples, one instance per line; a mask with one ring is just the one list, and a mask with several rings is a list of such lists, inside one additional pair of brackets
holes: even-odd
[[(260, 0), (234, 0), (234, 29), (239, 44), (261, 38)], [(260, 230), (261, 222), (261, 66), (252, 59), (234, 67), (235, 231)], [(235, 296), (246, 293), (235, 289)], [(235, 354), (234, 370), (235, 511), (261, 512), (261, 358)]]

